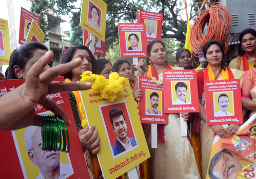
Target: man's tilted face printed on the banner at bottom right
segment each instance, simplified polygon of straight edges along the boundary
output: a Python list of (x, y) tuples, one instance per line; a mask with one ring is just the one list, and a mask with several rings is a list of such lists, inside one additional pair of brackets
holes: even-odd
[(211, 179), (236, 179), (237, 172), (242, 168), (243, 165), (238, 158), (236, 158), (229, 150), (224, 148), (213, 155), (209, 165), (208, 174)]

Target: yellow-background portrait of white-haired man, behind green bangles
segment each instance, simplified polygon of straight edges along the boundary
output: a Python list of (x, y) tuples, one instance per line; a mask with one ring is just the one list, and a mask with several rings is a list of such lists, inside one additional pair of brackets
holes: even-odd
[(68, 153), (42, 150), (41, 127), (29, 126), (15, 130), (13, 138), (20, 151), (18, 158), (23, 162), (23, 172), (28, 178), (64, 179), (74, 173)]

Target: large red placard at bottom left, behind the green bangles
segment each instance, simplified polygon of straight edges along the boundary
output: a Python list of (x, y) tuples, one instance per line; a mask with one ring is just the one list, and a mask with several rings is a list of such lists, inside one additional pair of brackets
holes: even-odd
[[(64, 81), (64, 78), (57, 77), (55, 80)], [(0, 100), (1, 96), (12, 91), (19, 85), (22, 85), (24, 82), (25, 79), (0, 81)], [(42, 149), (37, 146), (34, 149), (37, 154), (34, 152), (34, 158), (32, 158), (30, 155), (28, 155), (29, 151), (27, 151), (26, 149), (26, 147), (29, 147), (29, 142), (25, 144), (25, 141), (34, 141), (35, 139), (32, 140), (25, 136), (25, 130), (28, 128), (22, 128), (15, 131), (0, 130), (0, 160), (2, 161), (0, 163), (0, 172), (2, 178), (32, 179), (37, 178), (37, 176), (40, 176), (38, 178), (44, 178), (44, 175), (42, 174), (42, 172), (40, 172), (40, 168), (50, 168), (51, 165), (57, 165), (57, 162), (60, 162), (60, 174), (62, 174), (62, 176), (65, 176), (65, 178), (90, 178), (83, 150), (81, 147), (81, 142), (78, 137), (68, 93), (61, 92), (56, 94), (50, 94), (49, 97), (52, 98), (58, 105), (60, 105), (65, 110), (69, 120), (72, 123), (71, 126), (67, 126), (70, 139), (69, 152), (65, 153), (58, 151), (42, 151)], [(51, 111), (46, 110), (40, 104), (36, 104), (34, 110), (36, 114), (40, 115), (54, 115)], [(34, 132), (35, 134), (35, 130), (31, 129), (31, 127), (30, 129), (28, 129), (28, 131), (27, 132), (31, 133), (31, 135), (33, 135), (32, 132)], [(36, 145), (38, 144), (36, 143)], [(34, 146), (33, 143), (31, 145)], [(39, 155), (38, 153), (40, 152), (43, 154)], [(59, 160), (55, 160), (57, 158), (59, 158)]]

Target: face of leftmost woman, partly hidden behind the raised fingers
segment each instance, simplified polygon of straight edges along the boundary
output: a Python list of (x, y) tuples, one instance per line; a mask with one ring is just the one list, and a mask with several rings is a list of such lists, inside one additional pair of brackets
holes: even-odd
[[(22, 73), (22, 78), (26, 78), (27, 72), (29, 71), (29, 69), (31, 68), (31, 66), (38, 60), (40, 59), (43, 55), (45, 55), (47, 51), (46, 50), (41, 50), (41, 49), (37, 49), (34, 52), (34, 56), (27, 62), (27, 64), (25, 65), (25, 69)], [(50, 66), (46, 65), (43, 72), (46, 71), (47, 69), (49, 69)]]

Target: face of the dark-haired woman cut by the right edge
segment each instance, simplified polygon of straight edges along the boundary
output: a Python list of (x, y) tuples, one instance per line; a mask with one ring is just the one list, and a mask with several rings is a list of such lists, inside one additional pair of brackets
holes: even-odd
[(241, 46), (246, 53), (253, 53), (256, 51), (256, 37), (252, 34), (245, 34), (242, 38)]

